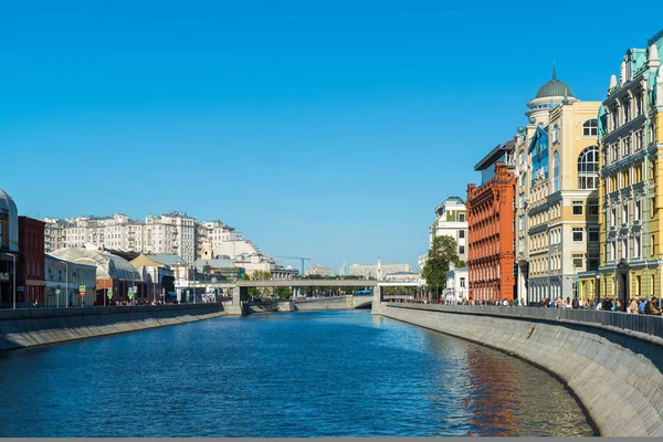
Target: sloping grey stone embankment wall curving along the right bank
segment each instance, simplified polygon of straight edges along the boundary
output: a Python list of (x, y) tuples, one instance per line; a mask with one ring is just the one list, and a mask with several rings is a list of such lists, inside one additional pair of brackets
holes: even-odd
[(373, 313), (490, 346), (548, 370), (573, 392), (601, 435), (663, 435), (661, 338), (525, 315), (386, 304)]

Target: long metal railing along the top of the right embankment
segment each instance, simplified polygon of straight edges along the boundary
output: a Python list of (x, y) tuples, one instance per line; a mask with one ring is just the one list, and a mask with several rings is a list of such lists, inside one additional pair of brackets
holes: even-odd
[(592, 309), (505, 307), (490, 305), (444, 305), (415, 303), (385, 303), (385, 305), (401, 308), (463, 313), (472, 315), (504, 316), (578, 324), (596, 324), (601, 326), (643, 333), (645, 335), (652, 335), (663, 339), (663, 317), (661, 316)]

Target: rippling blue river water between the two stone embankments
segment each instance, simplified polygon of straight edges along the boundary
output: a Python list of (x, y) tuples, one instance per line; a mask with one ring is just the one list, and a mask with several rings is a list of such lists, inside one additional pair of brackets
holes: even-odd
[(0, 355), (0, 436), (592, 435), (555, 378), (369, 312), (218, 318)]

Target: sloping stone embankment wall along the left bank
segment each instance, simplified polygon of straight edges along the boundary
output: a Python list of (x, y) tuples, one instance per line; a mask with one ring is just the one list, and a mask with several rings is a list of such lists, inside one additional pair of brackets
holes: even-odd
[(35, 347), (223, 316), (220, 304), (0, 312), (0, 350)]

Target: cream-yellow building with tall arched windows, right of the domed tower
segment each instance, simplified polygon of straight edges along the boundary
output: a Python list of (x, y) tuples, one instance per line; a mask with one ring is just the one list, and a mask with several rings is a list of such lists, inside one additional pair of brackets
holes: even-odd
[(526, 197), (530, 303), (575, 298), (578, 273), (598, 269), (599, 106), (562, 101), (530, 141)]

